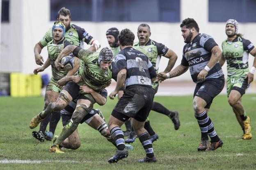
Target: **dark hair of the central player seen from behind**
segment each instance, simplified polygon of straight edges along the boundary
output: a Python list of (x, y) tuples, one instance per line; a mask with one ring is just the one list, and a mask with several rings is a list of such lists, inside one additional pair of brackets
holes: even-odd
[(119, 43), (122, 46), (133, 45), (135, 35), (133, 34), (133, 32), (130, 29), (126, 28), (120, 32), (118, 39), (119, 39)]

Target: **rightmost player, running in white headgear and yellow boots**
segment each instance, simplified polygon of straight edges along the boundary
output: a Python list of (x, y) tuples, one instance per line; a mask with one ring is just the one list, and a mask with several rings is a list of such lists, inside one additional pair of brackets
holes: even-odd
[[(251, 41), (242, 38), (238, 33), (238, 22), (229, 19), (226, 22), (227, 39), (222, 42), (222, 58), (219, 63), (223, 66), (227, 61), (227, 95), (230, 106), (232, 107), (238, 123), (242, 127), (242, 139), (251, 139), (250, 118), (247, 116), (242, 106), (242, 95), (254, 79), (256, 70), (256, 48)], [(254, 63), (249, 71), (248, 56), (254, 56)]]

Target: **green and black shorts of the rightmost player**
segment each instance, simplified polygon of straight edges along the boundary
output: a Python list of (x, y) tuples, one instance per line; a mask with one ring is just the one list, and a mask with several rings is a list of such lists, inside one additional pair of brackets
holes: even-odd
[(227, 78), (227, 95), (229, 96), (229, 93), (231, 90), (238, 91), (241, 96), (245, 94), (245, 91), (249, 87), (250, 84), (248, 84), (248, 79), (245, 79), (245, 77), (235, 77)]

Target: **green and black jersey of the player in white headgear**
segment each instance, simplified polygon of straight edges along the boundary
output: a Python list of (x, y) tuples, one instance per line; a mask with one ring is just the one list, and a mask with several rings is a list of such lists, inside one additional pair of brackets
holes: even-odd
[(224, 40), (222, 42), (223, 56), (227, 61), (228, 77), (245, 77), (249, 72), (248, 56), (254, 49), (251, 41), (236, 37), (232, 42)]

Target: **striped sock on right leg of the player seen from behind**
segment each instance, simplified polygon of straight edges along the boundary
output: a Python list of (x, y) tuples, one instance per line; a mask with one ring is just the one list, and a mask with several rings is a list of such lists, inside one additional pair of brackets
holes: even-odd
[(154, 157), (154, 151), (153, 151), (153, 146), (151, 143), (151, 139), (149, 136), (149, 133), (145, 132), (144, 134), (141, 134), (139, 136), (139, 141), (142, 143), (142, 146), (144, 147), (144, 150), (146, 152), (146, 156), (149, 158)]

